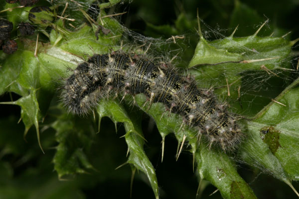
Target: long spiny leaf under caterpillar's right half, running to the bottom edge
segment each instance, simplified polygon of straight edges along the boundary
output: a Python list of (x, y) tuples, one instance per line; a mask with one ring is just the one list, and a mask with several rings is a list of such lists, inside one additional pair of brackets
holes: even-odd
[[(247, 183), (237, 173), (235, 165), (229, 156), (220, 151), (209, 150), (204, 142), (200, 142), (198, 145), (198, 134), (194, 130), (188, 129), (185, 125), (181, 128), (181, 124), (178, 123), (178, 121), (181, 121), (181, 118), (177, 115), (173, 113), (164, 115), (165, 110), (162, 108), (163, 105), (161, 103), (153, 103), (150, 108), (147, 105), (143, 106), (142, 104), (146, 102), (146, 98), (143, 95), (137, 95), (136, 101), (155, 120), (159, 133), (162, 136), (162, 142), (164, 142), (165, 136), (170, 132), (174, 132), (179, 145), (184, 142), (184, 136), (186, 136), (186, 141), (191, 146), (190, 152), (193, 154), (193, 158), (195, 158), (193, 161), (197, 163), (200, 177), (210, 181), (217, 187), (225, 199), (235, 199), (238, 196), (249, 199), (256, 198)], [(179, 154), (177, 154), (177, 158), (178, 156)]]

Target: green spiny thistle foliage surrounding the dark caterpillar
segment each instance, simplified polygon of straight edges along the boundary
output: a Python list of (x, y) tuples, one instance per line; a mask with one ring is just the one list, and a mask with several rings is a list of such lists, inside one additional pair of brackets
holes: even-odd
[[(178, 142), (175, 158), (179, 158), (182, 150), (189, 151), (193, 156), (190, 157), (193, 170), (200, 182), (209, 181), (220, 191), (223, 198), (257, 198), (248, 182), (237, 172), (236, 165), (240, 162), (251, 168), (259, 168), (294, 189), (292, 181), (299, 179), (299, 79), (296, 79), (298, 73), (292, 64), (292, 47), (296, 41), (290, 41), (282, 35), (269, 36), (269, 29), (266, 31), (267, 36), (258, 36), (264, 24), (260, 25), (255, 33), (251, 33), (252, 25), (260, 24), (262, 18), (255, 10), (239, 1), (235, 2), (230, 26), (235, 27), (240, 18), (244, 18), (245, 24), (240, 24), (236, 32), (231, 32), (231, 36), (212, 41), (204, 36), (206, 27), (198, 30), (199, 41), (195, 33), (184, 34), (185, 39), (171, 38), (174, 35), (182, 35), (187, 30), (197, 29), (196, 18), (183, 12), (178, 14), (174, 25), (153, 25), (149, 20), (146, 34), (170, 37), (171, 43), (165, 39), (159, 50), (176, 52), (180, 48), (182, 53), (179, 56), (183, 60), (178, 58), (174, 62), (181, 62), (178, 66), (189, 62), (188, 73), (197, 80), (198, 85), (213, 88), (219, 99), (230, 104), (231, 111), (243, 116), (238, 122), (242, 126), (245, 138), (237, 151), (227, 154), (217, 148), (209, 149), (207, 143), (199, 142), (198, 133), (194, 129), (181, 126), (180, 116), (165, 112), (165, 107), (160, 103), (149, 106), (146, 97), (141, 94), (135, 96), (135, 99), (127, 96), (122, 103), (118, 98), (103, 99), (99, 101), (94, 114), (86, 118), (68, 114), (59, 101), (59, 88), (63, 79), (71, 74), (69, 69), (76, 68), (77, 64), (73, 60), (82, 61), (94, 53), (105, 54), (121, 48), (128, 52), (132, 46), (131, 41), (125, 37), (130, 34), (128, 30), (114, 18), (105, 17), (104, 8), (112, 7), (119, 3), (119, 0), (102, 3), (102, 18), (96, 23), (86, 14), (89, 1), (81, 2), (83, 7), (69, 2), (71, 8), (77, 9), (67, 9), (68, 18), (76, 20), (76, 28), (69, 27), (62, 18), (56, 18), (51, 22), (55, 15), (61, 13), (64, 2), (54, 1), (53, 13), (39, 12), (39, 16), (34, 20), (37, 25), (36, 33), (32, 36), (18, 37), (18, 50), (15, 53), (0, 53), (0, 95), (14, 93), (19, 96), (17, 100), (1, 102), (1, 106), (20, 106), (20, 118), (24, 124), (24, 129), (17, 128), (15, 115), (0, 119), (0, 146), (3, 147), (1, 157), (11, 155), (22, 164), (30, 161), (39, 164), (37, 168), (24, 169), (21, 175), (13, 177), (15, 168), (9, 162), (9, 158), (8, 161), (3, 158), (0, 161), (0, 173), (3, 174), (0, 184), (5, 187), (0, 189), (0, 196), (85, 198), (80, 189), (90, 189), (109, 178), (123, 180), (130, 176), (124, 170), (120, 171), (121, 169), (111, 171), (115, 165), (120, 164), (116, 160), (121, 160), (130, 164), (133, 177), (136, 170), (145, 173), (154, 197), (159, 198), (157, 171), (152, 165), (150, 155), (144, 149), (148, 144), (141, 117), (144, 112), (153, 118), (161, 136), (158, 140), (162, 140), (161, 158), (167, 155), (164, 155), (165, 138), (173, 133)], [(48, 4), (46, 1), (41, 1), (40, 4), (42, 3)], [(3, 4), (3, 9), (16, 6), (18, 5), (6, 3)], [(29, 8), (14, 8), (9, 13), (3, 12), (5, 15), (2, 13), (2, 16), (16, 27), (21, 21), (28, 22)], [(140, 10), (141, 15), (145, 14), (143, 8)], [(225, 16), (227, 13), (222, 11), (215, 15)], [(20, 17), (15, 17), (16, 15)], [(146, 16), (150, 18), (151, 15)], [(44, 18), (48, 19), (47, 24), (41, 23)], [(158, 19), (153, 17), (152, 20)], [(102, 25), (111, 32), (105, 34), (104, 31), (99, 31)], [(243, 37), (235, 37), (234, 33)], [(15, 29), (14, 34), (17, 34)], [(37, 36), (39, 42), (36, 49)], [(143, 42), (147, 40), (144, 39)], [(153, 43), (154, 45), (158, 44)], [(154, 47), (152, 48), (154, 51)], [(271, 90), (268, 89), (269, 85), (280, 86)], [(271, 92), (266, 92), (268, 90)], [(133, 101), (136, 101), (140, 108), (132, 106)], [(105, 117), (110, 117), (116, 128), (118, 123), (123, 124), (125, 132), (122, 137), (127, 143), (127, 148), (119, 144), (125, 143), (124, 140), (116, 141), (105, 137), (101, 140), (100, 135), (96, 134), (97, 130), (100, 134), (114, 132)], [(34, 131), (31, 126), (35, 126), (38, 144), (46, 155), (41, 155), (38, 147), (34, 145), (34, 136), (28, 133)], [(32, 147), (25, 146), (19, 134), (20, 130), (24, 131), (26, 138), (30, 138), (28, 140)], [(126, 153), (129, 153), (127, 159)], [(51, 161), (53, 164), (49, 164)], [(50, 174), (53, 168), (58, 178)], [(40, 174), (43, 175), (40, 177)], [(71, 180), (61, 182), (58, 179)], [(30, 184), (24, 186), (28, 181)], [(37, 189), (39, 191), (34, 192)]]

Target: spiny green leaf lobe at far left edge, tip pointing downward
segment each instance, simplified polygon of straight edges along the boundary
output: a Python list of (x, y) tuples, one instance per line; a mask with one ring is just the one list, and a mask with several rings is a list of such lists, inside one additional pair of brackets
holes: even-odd
[[(18, 58), (21, 56), (21, 58)], [(13, 68), (15, 67), (15, 69)], [(30, 51), (19, 51), (9, 59), (5, 60), (3, 72), (8, 72), (8, 79), (4, 79), (2, 92), (15, 92), (22, 96), (12, 102), (1, 102), (2, 104), (14, 104), (21, 106), (21, 118), (25, 124), (24, 136), (29, 128), (36, 128), (37, 140), (42, 150), (39, 138), (38, 121), (41, 118), (38, 104), (39, 65), (37, 59)], [(11, 81), (13, 78), (14, 80)], [(10, 84), (8, 84), (10, 82)], [(43, 151), (43, 150), (42, 150)]]

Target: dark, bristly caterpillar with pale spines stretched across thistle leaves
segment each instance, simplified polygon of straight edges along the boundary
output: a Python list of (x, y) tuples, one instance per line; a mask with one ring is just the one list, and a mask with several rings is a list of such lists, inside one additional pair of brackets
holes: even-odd
[(210, 90), (197, 88), (194, 81), (178, 75), (169, 65), (141, 55), (120, 51), (95, 54), (67, 79), (62, 98), (70, 112), (82, 115), (111, 91), (133, 96), (143, 93), (150, 104), (165, 104), (204, 135), (210, 146), (217, 143), (224, 151), (234, 148), (242, 137), (226, 105), (219, 103)]

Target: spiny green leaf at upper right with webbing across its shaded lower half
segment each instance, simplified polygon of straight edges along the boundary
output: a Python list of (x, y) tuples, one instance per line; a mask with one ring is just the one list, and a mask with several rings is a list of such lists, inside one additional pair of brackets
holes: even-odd
[[(262, 27), (248, 37), (231, 35), (206, 41), (201, 36), (189, 64), (189, 73), (199, 85), (216, 88), (215, 93), (227, 99), (234, 111), (248, 116), (267, 105), (271, 101), (267, 98), (279, 95), (282, 88), (278, 87), (292, 81), (285, 72), (291, 68), (292, 42), (282, 37), (256, 36)], [(276, 87), (269, 91), (268, 84)]]

